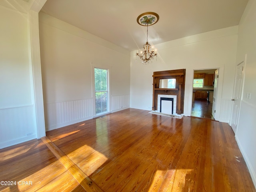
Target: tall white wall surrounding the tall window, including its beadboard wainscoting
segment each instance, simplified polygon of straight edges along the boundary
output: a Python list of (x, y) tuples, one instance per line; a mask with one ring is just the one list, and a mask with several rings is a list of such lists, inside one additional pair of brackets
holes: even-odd
[(92, 67), (110, 69), (110, 111), (130, 107), (130, 52), (40, 12), (46, 130), (92, 118)]

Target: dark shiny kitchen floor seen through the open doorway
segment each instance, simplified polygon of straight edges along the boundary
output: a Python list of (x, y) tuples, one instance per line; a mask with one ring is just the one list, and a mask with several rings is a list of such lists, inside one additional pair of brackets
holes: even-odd
[(192, 103), (191, 116), (213, 119), (212, 102), (207, 102), (206, 100), (195, 100)]

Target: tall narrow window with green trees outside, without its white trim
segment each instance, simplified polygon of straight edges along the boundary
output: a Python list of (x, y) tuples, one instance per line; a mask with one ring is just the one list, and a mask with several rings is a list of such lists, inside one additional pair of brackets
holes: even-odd
[(94, 68), (95, 80), (95, 112), (108, 111), (108, 70)]

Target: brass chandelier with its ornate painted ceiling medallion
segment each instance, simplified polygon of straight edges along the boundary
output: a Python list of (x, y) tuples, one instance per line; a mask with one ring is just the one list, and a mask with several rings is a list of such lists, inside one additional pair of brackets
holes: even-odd
[(148, 64), (154, 56), (157, 57), (156, 49), (154, 49), (153, 46), (151, 48), (151, 45), (148, 43), (148, 26), (155, 24), (158, 20), (159, 16), (154, 12), (142, 13), (137, 18), (138, 24), (147, 26), (147, 42), (143, 45), (143, 50), (141, 50), (140, 53), (138, 53), (138, 51), (136, 53), (136, 56), (140, 57), (143, 64)]

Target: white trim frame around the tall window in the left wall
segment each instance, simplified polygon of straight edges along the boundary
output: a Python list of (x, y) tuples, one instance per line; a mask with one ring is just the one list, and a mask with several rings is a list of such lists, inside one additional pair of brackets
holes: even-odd
[[(108, 70), (108, 104), (107, 111), (96, 115), (95, 108), (95, 76), (94, 76), (94, 68)], [(103, 116), (112, 112), (112, 102), (111, 102), (111, 66), (108, 65), (100, 65), (91, 63), (91, 74), (92, 74), (92, 116), (93, 118)]]

